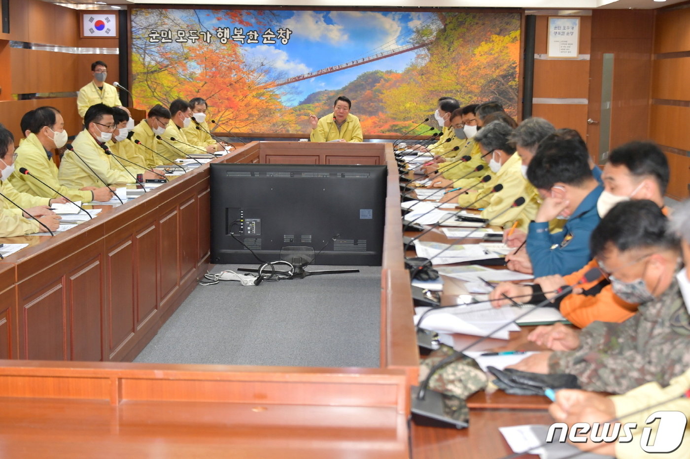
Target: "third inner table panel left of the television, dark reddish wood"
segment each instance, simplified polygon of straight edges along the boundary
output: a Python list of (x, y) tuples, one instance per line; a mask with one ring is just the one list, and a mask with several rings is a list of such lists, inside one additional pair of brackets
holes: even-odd
[(159, 298), (161, 310), (179, 286), (179, 212), (177, 206), (164, 210), (158, 221)]

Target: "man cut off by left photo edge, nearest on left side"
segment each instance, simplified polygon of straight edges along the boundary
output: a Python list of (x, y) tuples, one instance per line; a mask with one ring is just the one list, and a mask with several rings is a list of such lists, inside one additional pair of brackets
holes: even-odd
[[(12, 132), (0, 124), (0, 180), (5, 181), (14, 171), (14, 137)], [(60, 217), (50, 212), (50, 215), (38, 216), (34, 214), (43, 225), (50, 230), (57, 230), (60, 225)], [(24, 218), (19, 212), (14, 212), (14, 205), (0, 199), (0, 237), (23, 236), (39, 232), (40, 226), (35, 220)], [(28, 215), (26, 215), (28, 217)]]

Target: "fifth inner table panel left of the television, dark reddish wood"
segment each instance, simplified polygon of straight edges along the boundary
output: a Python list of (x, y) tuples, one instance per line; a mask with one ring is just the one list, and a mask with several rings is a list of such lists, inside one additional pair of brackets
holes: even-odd
[(135, 326), (135, 245), (126, 234), (106, 245), (106, 311), (108, 314), (108, 360), (119, 360)]

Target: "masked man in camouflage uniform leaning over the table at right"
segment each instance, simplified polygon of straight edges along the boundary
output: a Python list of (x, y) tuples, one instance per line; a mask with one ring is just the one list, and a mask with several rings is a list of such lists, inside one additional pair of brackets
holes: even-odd
[[(669, 381), (690, 368), (690, 315), (678, 283), (680, 243), (659, 205), (618, 203), (591, 234), (591, 251), (613, 293), (638, 312), (623, 323), (595, 321), (582, 330), (538, 327), (551, 351), (514, 367), (542, 374), (574, 374), (582, 389), (622, 394)], [(530, 334), (529, 339), (533, 338)]]

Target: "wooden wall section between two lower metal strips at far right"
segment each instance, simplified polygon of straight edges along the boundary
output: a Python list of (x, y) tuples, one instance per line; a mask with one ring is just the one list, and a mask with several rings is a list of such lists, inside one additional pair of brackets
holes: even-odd
[(660, 145), (690, 151), (690, 107), (652, 105), (649, 136)]

